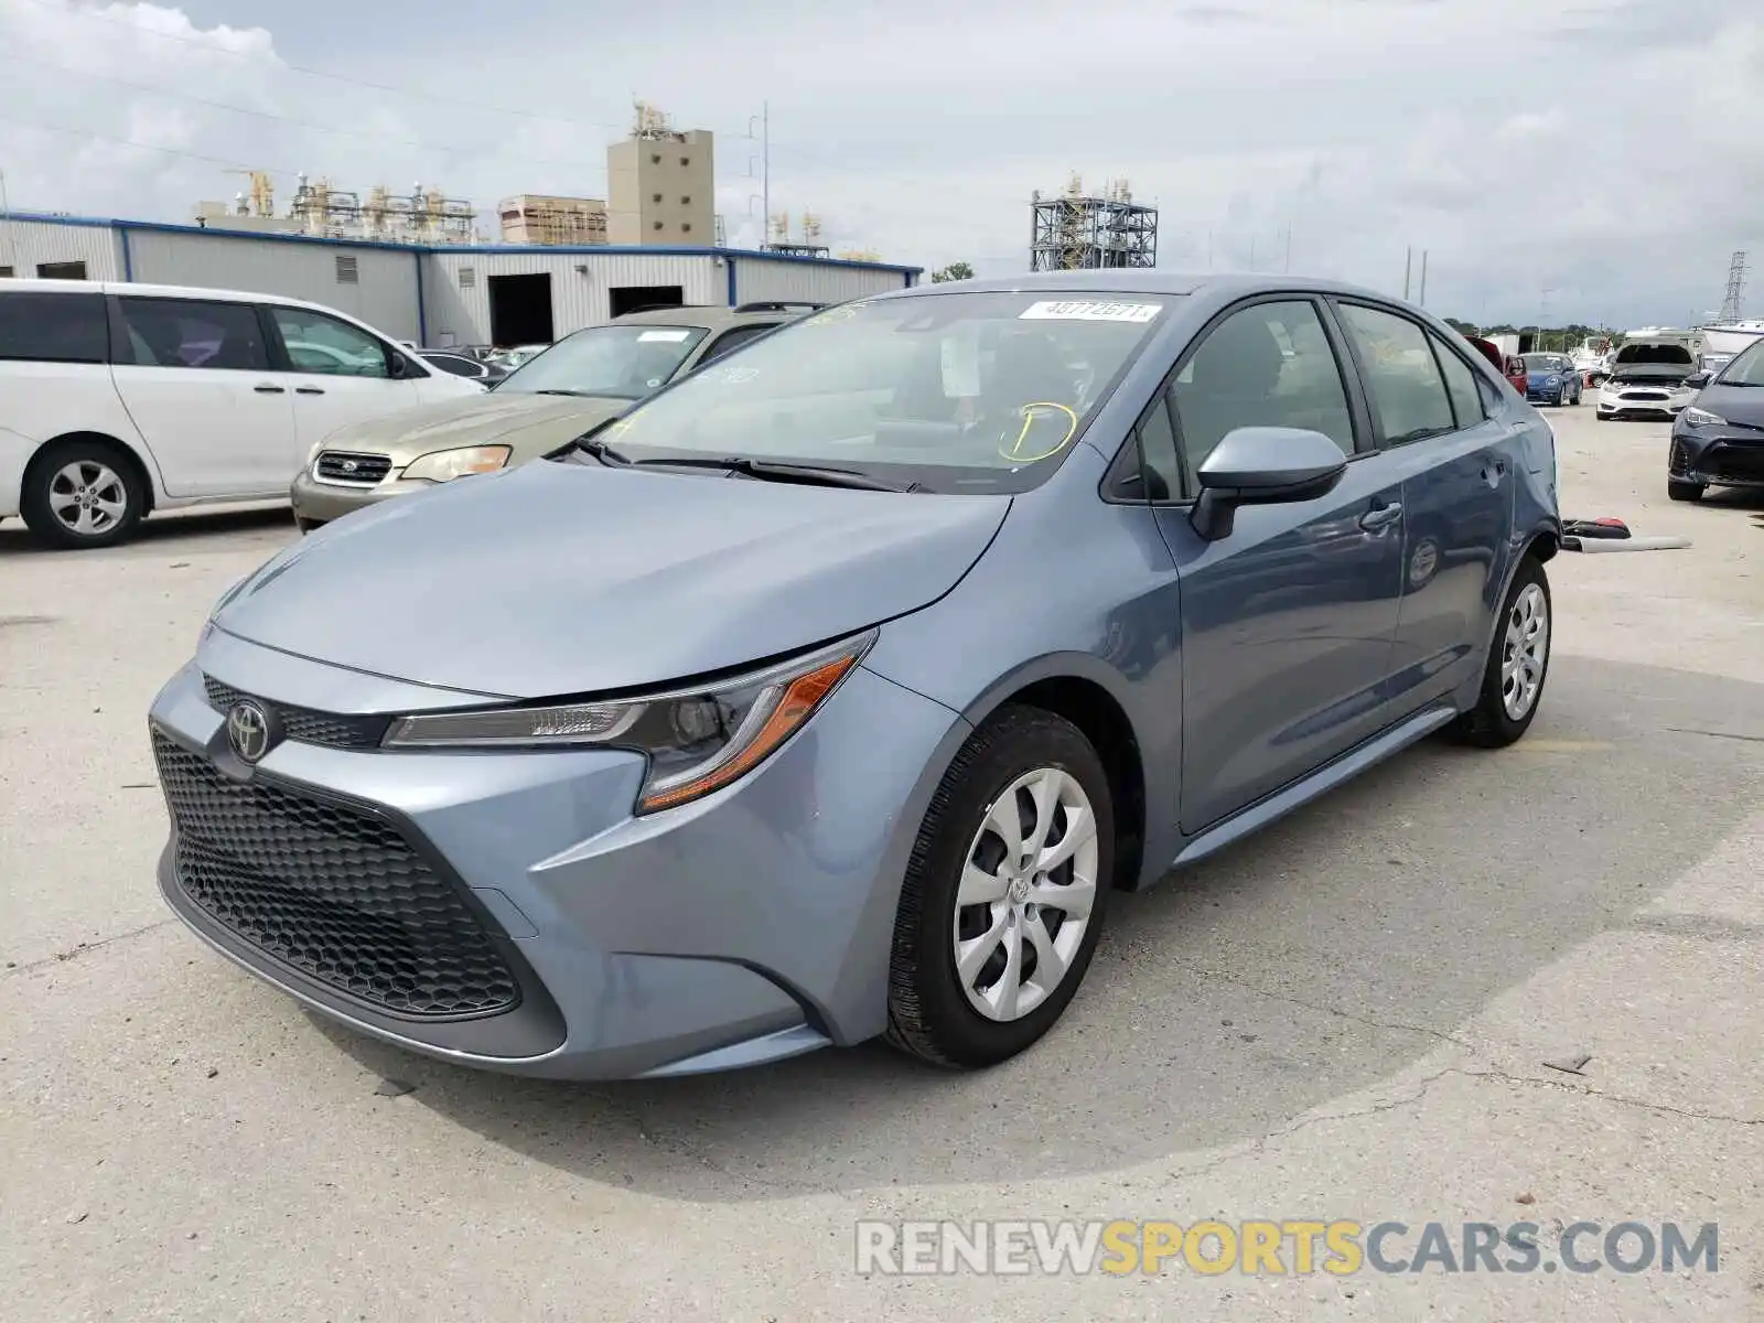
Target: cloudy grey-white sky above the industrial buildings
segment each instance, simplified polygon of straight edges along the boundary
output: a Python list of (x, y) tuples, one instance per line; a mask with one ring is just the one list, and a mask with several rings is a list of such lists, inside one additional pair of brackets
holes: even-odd
[(635, 97), (718, 136), (736, 245), (769, 104), (773, 210), (891, 261), (1023, 270), (1080, 171), (1166, 268), (1401, 291), (1413, 247), (1438, 312), (1633, 326), (1745, 247), (1764, 316), (1759, 0), (0, 0), (16, 210), (185, 220), (229, 168), (603, 196)]

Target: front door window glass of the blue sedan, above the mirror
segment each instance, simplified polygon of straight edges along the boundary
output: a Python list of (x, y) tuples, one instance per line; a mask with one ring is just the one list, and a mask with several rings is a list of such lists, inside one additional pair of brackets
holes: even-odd
[(1256, 303), (1221, 321), (1171, 385), (1189, 490), (1238, 427), (1302, 427), (1353, 453), (1348, 392), (1309, 302)]

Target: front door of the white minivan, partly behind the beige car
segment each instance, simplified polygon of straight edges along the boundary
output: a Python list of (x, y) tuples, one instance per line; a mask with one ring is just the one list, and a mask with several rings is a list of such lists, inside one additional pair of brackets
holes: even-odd
[(282, 483), (293, 480), (305, 453), (339, 427), (416, 407), (416, 377), (397, 376), (404, 356), (356, 326), (305, 307), (265, 305), (277, 379), (295, 402), (298, 443), (289, 450)]

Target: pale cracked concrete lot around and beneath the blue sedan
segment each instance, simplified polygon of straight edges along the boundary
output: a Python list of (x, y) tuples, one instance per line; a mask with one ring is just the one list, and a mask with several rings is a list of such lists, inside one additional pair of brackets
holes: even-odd
[[(1568, 515), (1695, 547), (1554, 561), (1529, 737), (1425, 744), (1127, 898), (1062, 1028), (965, 1078), (534, 1085), (323, 1027), (152, 877), (146, 704), (286, 512), (72, 556), (9, 522), (0, 1312), (1764, 1318), (1764, 505), (1669, 505), (1665, 427), (1552, 418)], [(859, 1217), (1718, 1221), (1722, 1265), (864, 1279)]]

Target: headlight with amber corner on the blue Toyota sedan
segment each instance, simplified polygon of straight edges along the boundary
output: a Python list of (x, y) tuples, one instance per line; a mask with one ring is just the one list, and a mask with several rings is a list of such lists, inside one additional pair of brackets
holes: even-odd
[(850, 674), (875, 630), (790, 662), (667, 693), (542, 707), (402, 716), (386, 748), (628, 748), (649, 755), (639, 813), (739, 780), (796, 734)]

